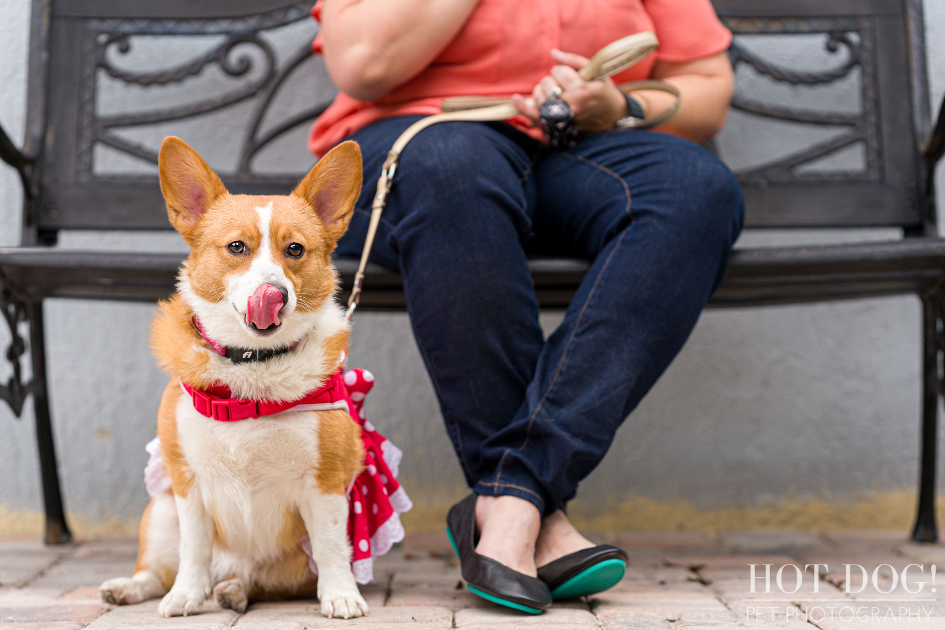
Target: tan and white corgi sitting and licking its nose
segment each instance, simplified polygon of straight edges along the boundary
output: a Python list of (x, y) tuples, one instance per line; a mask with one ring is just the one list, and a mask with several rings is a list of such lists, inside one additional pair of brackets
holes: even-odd
[(349, 324), (331, 254), (361, 190), (360, 149), (338, 145), (287, 196), (230, 194), (175, 137), (163, 141), (159, 171), (170, 222), (190, 246), (151, 328), (170, 375), (158, 411), (170, 489), (142, 516), (134, 574), (102, 584), (102, 599), (163, 597), (158, 612), (173, 617), (198, 613), (212, 595), (238, 612), (253, 600), (317, 596), (326, 617), (367, 615), (345, 496), (365, 449), (348, 409), (220, 422), (238, 418), (207, 417), (190, 391), (298, 401), (337, 372)]

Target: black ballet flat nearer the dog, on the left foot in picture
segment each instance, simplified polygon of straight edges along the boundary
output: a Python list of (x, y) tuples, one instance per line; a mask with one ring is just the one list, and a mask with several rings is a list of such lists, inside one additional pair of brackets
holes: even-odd
[(459, 558), (466, 587), (495, 604), (540, 614), (552, 602), (544, 582), (475, 552), (475, 499), (472, 494), (459, 501), (446, 516), (446, 535)]

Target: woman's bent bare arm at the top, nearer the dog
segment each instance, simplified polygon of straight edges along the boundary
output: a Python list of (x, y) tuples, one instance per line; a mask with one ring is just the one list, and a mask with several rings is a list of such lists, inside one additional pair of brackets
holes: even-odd
[(412, 79), (453, 41), (479, 0), (325, 0), (322, 57), (342, 92), (361, 100)]

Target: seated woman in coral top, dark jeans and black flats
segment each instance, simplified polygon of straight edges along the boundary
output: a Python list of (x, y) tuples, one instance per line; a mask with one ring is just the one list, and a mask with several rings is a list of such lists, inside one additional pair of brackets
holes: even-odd
[[(316, 122), (323, 154), (364, 153), (340, 254), (359, 255), (387, 150), (449, 96), (514, 97), (508, 123), (448, 122), (404, 149), (371, 260), (404, 276), (422, 358), (472, 495), (448, 516), (471, 589), (541, 612), (613, 586), (627, 554), (594, 547), (565, 505), (679, 352), (726, 270), (744, 215), (729, 168), (698, 146), (721, 129), (730, 32), (710, 0), (324, 0), (315, 49), (340, 94)], [(655, 55), (613, 80), (576, 68), (652, 30)], [(628, 115), (672, 105), (654, 131)], [(560, 92), (580, 131), (554, 150), (533, 120)], [(529, 254), (591, 262), (548, 339)]]

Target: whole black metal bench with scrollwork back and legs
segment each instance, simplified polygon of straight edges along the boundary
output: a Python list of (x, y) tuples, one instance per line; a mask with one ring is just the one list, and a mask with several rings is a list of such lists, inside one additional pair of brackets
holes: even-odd
[[(289, 137), (286, 134), (298, 134), (330, 100), (332, 88), (326, 85), (320, 102), (306, 99), (301, 108), (273, 114), (273, 102), (287, 86), (300, 76), (313, 76), (315, 71), (305, 68), (320, 63), (312, 58), (307, 41), (286, 52), (279, 39), (292, 25), (305, 23), (314, 30), (308, 16), (311, 4), (32, 2), (24, 148), (17, 149), (5, 132), (0, 133), (0, 156), (19, 171), (24, 189), (21, 246), (0, 249), (0, 306), (12, 335), (7, 353), (12, 376), (0, 386), (0, 398), (19, 415), (26, 398), (33, 396), (47, 543), (67, 542), (71, 534), (62, 508), (49, 414), (43, 299), (154, 301), (171, 292), (180, 264), (180, 254), (64, 249), (56, 246), (58, 235), (68, 230), (169, 230), (156, 178), (158, 145), (132, 131), (157, 129), (148, 136), (151, 140), (160, 140), (164, 133), (186, 137), (180, 125), (218, 112), (242, 113), (245, 118), (232, 165), (220, 168), (230, 190), (290, 190), (310, 165), (282, 170), (256, 165), (267, 147)], [(754, 149), (728, 150), (728, 129), (723, 132), (718, 147), (724, 159), (734, 155), (730, 164), (745, 190), (747, 226), (891, 227), (901, 229), (901, 236), (883, 242), (740, 249), (712, 306), (919, 295), (924, 306), (924, 376), (919, 509), (912, 536), (935, 541), (945, 239), (936, 236), (932, 174), (945, 152), (945, 120), (939, 118), (932, 129), (921, 2), (715, 0), (715, 7), (736, 33), (730, 57), (738, 76), (747, 78), (739, 79), (732, 124), (741, 120), (755, 125), (753, 129), (793, 125), (819, 132), (806, 146), (779, 146), (780, 154), (755, 156), (753, 164), (747, 164), (746, 156)], [(755, 45), (759, 38), (780, 43), (785, 36), (815, 38), (808, 52), (822, 54), (825, 63), (815, 69), (791, 69)], [(175, 42), (195, 38), (206, 45), (191, 58), (168, 61), (159, 70), (123, 65), (135, 46), (171, 37)], [(323, 70), (319, 72), (324, 78)], [(213, 74), (215, 88), (189, 88), (183, 103), (166, 104), (155, 96), (146, 106), (116, 113), (97, 100), (103, 89), (115, 85), (146, 95), (176, 89), (180, 96), (181, 86), (208, 74)], [(232, 83), (224, 85), (225, 80)], [(772, 102), (747, 94), (750, 90), (743, 88), (758, 81), (782, 89), (778, 94), (785, 96)], [(817, 96), (832, 85), (851, 88), (851, 106), (834, 107)], [(815, 95), (810, 106), (794, 102), (805, 90)], [(110, 170), (103, 154), (130, 157), (141, 167)], [(837, 155), (842, 159), (832, 162)], [(337, 266), (349, 286), (355, 262), (338, 259)], [(581, 260), (532, 261), (541, 306), (566, 306), (587, 267)], [(397, 273), (371, 268), (361, 306), (402, 309)], [(28, 381), (21, 371), (27, 345), (19, 332), (21, 322), (29, 327)]]

